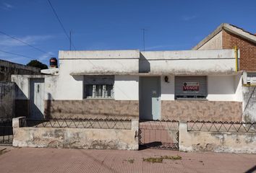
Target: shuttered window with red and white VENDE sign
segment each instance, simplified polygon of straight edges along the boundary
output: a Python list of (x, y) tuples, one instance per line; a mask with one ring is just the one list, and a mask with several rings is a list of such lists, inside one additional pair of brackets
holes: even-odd
[(206, 76), (175, 76), (175, 99), (206, 99)]

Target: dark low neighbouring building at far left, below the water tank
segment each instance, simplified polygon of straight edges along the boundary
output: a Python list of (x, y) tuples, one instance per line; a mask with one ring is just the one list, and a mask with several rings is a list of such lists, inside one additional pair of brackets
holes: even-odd
[(40, 74), (40, 68), (0, 60), (0, 81), (11, 81), (12, 74)]

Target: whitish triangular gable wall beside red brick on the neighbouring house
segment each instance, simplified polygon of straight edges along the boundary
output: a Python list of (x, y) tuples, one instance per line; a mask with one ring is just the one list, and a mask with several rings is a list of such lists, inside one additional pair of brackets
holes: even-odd
[(222, 49), (222, 31), (212, 37), (208, 42), (202, 45), (198, 50)]

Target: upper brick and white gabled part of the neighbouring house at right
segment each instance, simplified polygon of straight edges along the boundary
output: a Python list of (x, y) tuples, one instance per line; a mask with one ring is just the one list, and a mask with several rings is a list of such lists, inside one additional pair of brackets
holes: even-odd
[(234, 46), (240, 51), (239, 71), (247, 72), (247, 81), (244, 80), (244, 84), (256, 84), (256, 35), (223, 23), (192, 49), (230, 49)]

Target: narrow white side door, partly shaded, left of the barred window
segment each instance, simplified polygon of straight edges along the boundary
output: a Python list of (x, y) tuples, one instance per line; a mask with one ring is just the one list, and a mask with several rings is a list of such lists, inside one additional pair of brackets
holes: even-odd
[(43, 119), (44, 79), (30, 79), (30, 118)]

